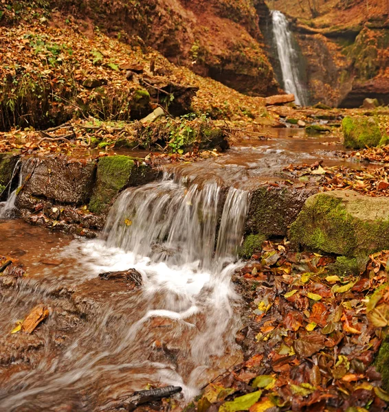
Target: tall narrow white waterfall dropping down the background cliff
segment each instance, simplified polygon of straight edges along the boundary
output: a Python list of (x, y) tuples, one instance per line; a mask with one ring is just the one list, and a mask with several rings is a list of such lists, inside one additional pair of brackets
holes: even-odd
[(296, 104), (304, 106), (307, 104), (307, 97), (299, 70), (298, 53), (293, 45), (293, 34), (289, 30), (289, 22), (285, 15), (278, 10), (273, 10), (271, 17), (284, 89), (287, 93), (293, 93)]

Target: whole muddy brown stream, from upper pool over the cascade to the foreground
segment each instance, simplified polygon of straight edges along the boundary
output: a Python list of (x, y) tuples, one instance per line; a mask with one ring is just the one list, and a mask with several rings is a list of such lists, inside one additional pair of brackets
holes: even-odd
[[(0, 220), (0, 254), (25, 268), (0, 277), (1, 411), (115, 411), (148, 384), (181, 386), (184, 407), (241, 360), (230, 279), (249, 189), (289, 163), (353, 165), (336, 157), (333, 137), (266, 133), (124, 191), (97, 240)], [(142, 275), (140, 288), (98, 277), (128, 268)], [(38, 304), (48, 319), (31, 335), (10, 334)]]

